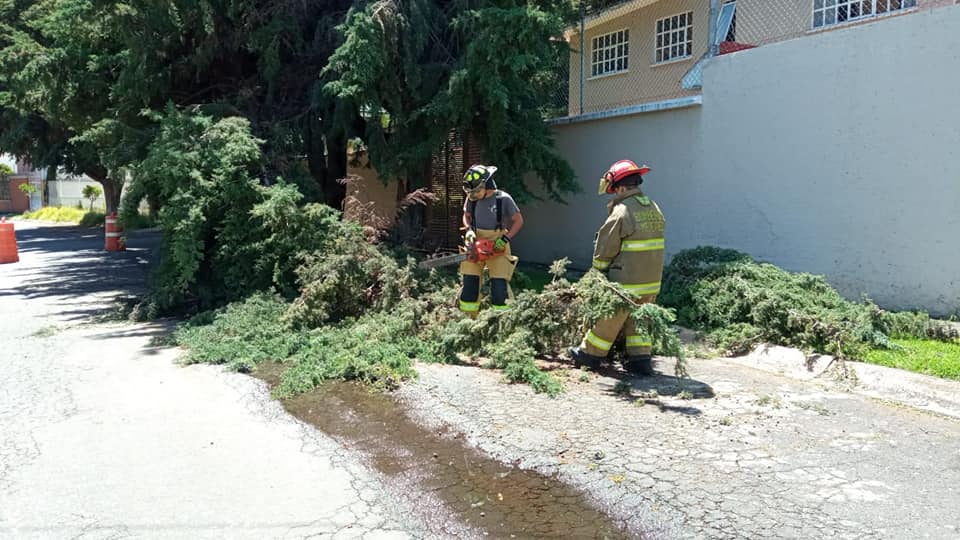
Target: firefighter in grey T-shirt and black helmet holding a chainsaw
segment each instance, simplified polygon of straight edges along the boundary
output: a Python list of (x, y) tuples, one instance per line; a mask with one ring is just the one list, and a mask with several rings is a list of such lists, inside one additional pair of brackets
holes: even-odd
[(510, 278), (519, 260), (510, 252), (510, 241), (523, 227), (523, 216), (513, 197), (497, 189), (493, 173), (497, 168), (490, 165), (473, 165), (463, 175), (463, 225), (467, 228), (466, 244), (477, 238), (495, 240), (494, 250), (502, 255), (480, 263), (460, 263), (463, 288), (460, 291), (460, 310), (475, 317), (480, 310), (480, 285), (483, 269), (490, 274), (490, 303), (494, 310), (508, 309)]

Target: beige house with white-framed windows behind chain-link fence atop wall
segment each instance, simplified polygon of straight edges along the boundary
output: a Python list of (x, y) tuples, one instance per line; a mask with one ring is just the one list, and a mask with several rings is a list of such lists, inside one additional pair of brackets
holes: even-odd
[[(630, 0), (581, 8), (567, 31), (567, 84), (548, 116), (694, 101), (709, 58), (957, 0)], [(679, 101), (674, 101), (679, 100)]]

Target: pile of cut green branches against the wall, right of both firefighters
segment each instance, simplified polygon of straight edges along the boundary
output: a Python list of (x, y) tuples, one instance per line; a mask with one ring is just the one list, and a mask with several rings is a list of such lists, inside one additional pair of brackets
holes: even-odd
[(870, 349), (894, 347), (891, 336), (950, 339), (953, 333), (926, 314), (848, 301), (822, 276), (787, 272), (715, 247), (676, 254), (664, 272), (659, 301), (677, 310), (681, 324), (706, 332), (730, 354), (775, 343), (859, 359)]

